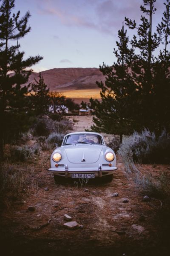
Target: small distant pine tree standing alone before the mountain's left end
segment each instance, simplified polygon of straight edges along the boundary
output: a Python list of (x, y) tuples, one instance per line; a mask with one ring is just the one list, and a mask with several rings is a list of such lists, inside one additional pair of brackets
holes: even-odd
[(50, 105), (49, 88), (44, 82), (41, 73), (39, 75), (39, 81), (36, 79), (35, 83), (31, 84), (31, 98), (33, 103), (34, 111), (37, 115), (43, 115), (48, 112)]

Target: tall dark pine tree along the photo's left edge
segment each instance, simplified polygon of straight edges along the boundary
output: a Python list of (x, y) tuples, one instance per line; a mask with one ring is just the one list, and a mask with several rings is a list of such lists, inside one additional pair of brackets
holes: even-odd
[[(20, 12), (12, 14), (14, 0), (0, 0), (0, 158), (3, 158), (3, 146), (7, 142), (10, 128), (20, 119), (23, 99), (28, 92), (27, 87), (21, 87), (28, 81), (31, 74), (25, 71), (42, 59), (39, 55), (23, 60), (24, 52), (19, 52), (18, 40), (23, 38), (29, 31), (27, 26), (30, 17), (29, 12), (20, 18)], [(16, 45), (12, 43), (17, 41)], [(13, 76), (9, 72), (14, 72)], [(17, 108), (17, 111), (16, 111)], [(22, 131), (22, 125), (15, 129), (16, 133)]]

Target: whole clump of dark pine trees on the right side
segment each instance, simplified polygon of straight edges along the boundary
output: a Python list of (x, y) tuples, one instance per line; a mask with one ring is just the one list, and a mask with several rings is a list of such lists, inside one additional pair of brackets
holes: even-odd
[[(123, 134), (142, 131), (161, 133), (170, 131), (170, 2), (166, 0), (162, 21), (153, 32), (155, 0), (143, 0), (141, 23), (125, 17), (129, 29), (136, 34), (131, 40), (124, 26), (118, 32), (119, 42), (114, 49), (116, 63), (100, 67), (105, 83), (101, 88), (101, 101), (91, 99), (94, 109), (94, 131)], [(164, 46), (156, 57), (155, 50)]]

